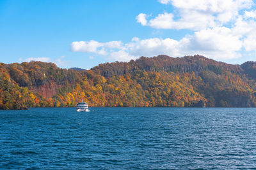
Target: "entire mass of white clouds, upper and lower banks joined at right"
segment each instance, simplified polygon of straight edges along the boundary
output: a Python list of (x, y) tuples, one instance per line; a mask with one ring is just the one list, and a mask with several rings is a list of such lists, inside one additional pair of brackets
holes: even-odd
[(74, 52), (102, 55), (109, 60), (127, 61), (160, 54), (172, 57), (201, 54), (212, 59), (234, 59), (241, 52), (256, 52), (256, 10), (252, 0), (158, 0), (170, 4), (175, 13), (151, 17), (140, 13), (136, 21), (154, 29), (189, 29), (181, 39), (134, 37), (122, 41), (75, 41)]

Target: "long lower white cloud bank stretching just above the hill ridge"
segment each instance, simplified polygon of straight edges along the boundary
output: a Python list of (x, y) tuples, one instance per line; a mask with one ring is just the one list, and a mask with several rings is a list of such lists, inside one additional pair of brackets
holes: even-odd
[[(101, 55), (109, 60), (121, 61), (160, 54), (172, 57), (201, 54), (212, 59), (232, 59), (240, 57), (239, 51), (242, 47), (243, 41), (239, 36), (234, 35), (231, 29), (215, 27), (214, 29), (196, 31), (192, 36), (188, 35), (179, 41), (172, 38), (139, 39), (135, 37), (129, 43), (120, 46), (122, 50), (106, 48), (105, 53)], [(99, 51), (95, 50), (94, 53), (99, 55)]]

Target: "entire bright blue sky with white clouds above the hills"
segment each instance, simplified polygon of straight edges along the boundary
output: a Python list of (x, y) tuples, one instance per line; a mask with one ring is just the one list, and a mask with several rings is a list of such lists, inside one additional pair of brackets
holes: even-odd
[(251, 0), (0, 0), (0, 62), (91, 68), (141, 55), (255, 60)]

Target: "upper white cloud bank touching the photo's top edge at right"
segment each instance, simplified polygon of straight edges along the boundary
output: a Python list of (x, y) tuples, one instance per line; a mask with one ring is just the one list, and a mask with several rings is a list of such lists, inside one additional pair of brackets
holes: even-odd
[[(249, 9), (252, 0), (159, 0), (162, 4), (172, 4), (179, 11), (175, 17), (173, 13), (162, 13), (147, 20), (145, 13), (140, 13), (136, 19), (141, 25), (148, 25), (156, 29), (200, 29), (220, 27), (232, 20), (236, 20), (239, 10)], [(253, 15), (248, 13), (247, 15)]]

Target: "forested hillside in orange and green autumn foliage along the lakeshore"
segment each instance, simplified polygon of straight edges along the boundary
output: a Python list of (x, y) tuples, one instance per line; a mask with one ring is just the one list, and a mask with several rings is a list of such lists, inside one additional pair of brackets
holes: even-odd
[(0, 63), (0, 108), (76, 106), (255, 107), (256, 62), (200, 55), (140, 57), (61, 69), (45, 62)]

